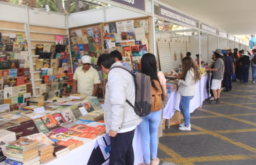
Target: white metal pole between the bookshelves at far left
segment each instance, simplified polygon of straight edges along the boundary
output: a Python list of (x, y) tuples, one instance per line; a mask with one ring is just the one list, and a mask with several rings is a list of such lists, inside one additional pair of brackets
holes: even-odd
[(27, 21), (26, 21), (26, 37), (28, 42), (28, 52), (29, 52), (29, 62), (30, 62), (30, 76), (32, 80), (32, 91), (33, 95), (36, 95), (36, 87), (35, 87), (35, 79), (34, 79), (34, 69), (33, 69), (33, 59), (32, 59), (32, 53), (31, 53), (31, 42), (30, 42), (30, 30), (29, 30), (29, 9), (28, 6), (26, 6), (26, 15), (27, 15)]

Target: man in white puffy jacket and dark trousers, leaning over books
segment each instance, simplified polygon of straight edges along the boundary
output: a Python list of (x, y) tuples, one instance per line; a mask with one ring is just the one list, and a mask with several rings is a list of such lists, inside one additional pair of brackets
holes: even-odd
[(122, 66), (122, 64), (120, 61), (115, 62), (110, 54), (101, 55), (98, 65), (108, 74), (104, 120), (106, 132), (111, 136), (109, 164), (133, 165), (133, 136), (136, 126), (142, 119), (125, 100), (135, 104), (134, 77), (122, 68), (111, 69), (114, 66)]

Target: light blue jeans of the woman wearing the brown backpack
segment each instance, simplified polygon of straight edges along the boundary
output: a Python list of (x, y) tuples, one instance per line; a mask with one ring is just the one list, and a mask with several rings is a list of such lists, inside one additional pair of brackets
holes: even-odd
[(142, 118), (140, 123), (141, 142), (143, 157), (146, 164), (150, 164), (150, 155), (152, 159), (157, 155), (157, 132), (161, 120), (162, 111), (151, 112)]

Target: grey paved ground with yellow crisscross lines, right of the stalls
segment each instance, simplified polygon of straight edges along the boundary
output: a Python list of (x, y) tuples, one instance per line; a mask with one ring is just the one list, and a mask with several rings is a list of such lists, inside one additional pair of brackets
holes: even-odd
[(233, 83), (220, 100), (215, 105), (206, 100), (191, 114), (191, 131), (178, 125), (164, 130), (161, 164), (256, 164), (256, 84)]

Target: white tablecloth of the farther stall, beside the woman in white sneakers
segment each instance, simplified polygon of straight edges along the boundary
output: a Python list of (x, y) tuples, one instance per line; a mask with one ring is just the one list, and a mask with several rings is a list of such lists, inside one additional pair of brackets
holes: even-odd
[[(190, 113), (194, 112), (194, 110), (200, 107), (203, 104), (203, 101), (209, 97), (209, 92), (207, 90), (209, 76), (205, 76), (201, 78), (202, 83), (202, 100), (200, 101), (200, 84), (199, 81), (195, 84), (195, 96), (190, 101), (189, 111)], [(180, 94), (178, 92), (173, 92), (168, 94), (168, 102), (167, 105), (163, 109), (163, 118), (170, 119), (173, 117), (174, 112), (179, 109), (180, 104)]]

